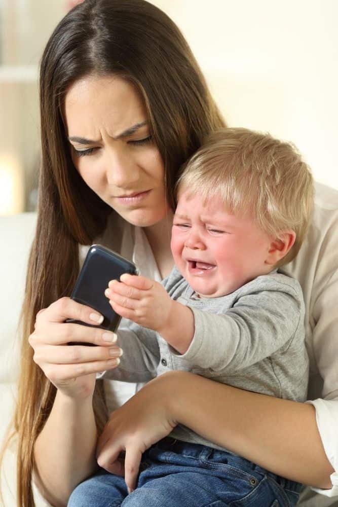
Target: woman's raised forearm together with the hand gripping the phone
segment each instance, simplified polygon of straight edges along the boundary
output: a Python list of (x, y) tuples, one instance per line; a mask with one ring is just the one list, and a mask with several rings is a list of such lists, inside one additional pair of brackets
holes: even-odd
[[(116, 368), (120, 355), (114, 333), (65, 323), (67, 318), (88, 324), (100, 321), (92, 308), (61, 298), (37, 314), (28, 339), (35, 363), (57, 389), (51, 413), (34, 443), (35, 483), (55, 507), (66, 505), (72, 490), (97, 467), (96, 373)], [(69, 342), (96, 346), (69, 346)]]

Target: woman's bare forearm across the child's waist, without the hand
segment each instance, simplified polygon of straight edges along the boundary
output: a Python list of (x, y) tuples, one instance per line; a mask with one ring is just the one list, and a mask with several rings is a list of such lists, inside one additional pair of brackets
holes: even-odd
[(312, 405), (245, 391), (191, 373), (173, 373), (168, 380), (177, 422), (275, 474), (331, 488), (333, 468)]

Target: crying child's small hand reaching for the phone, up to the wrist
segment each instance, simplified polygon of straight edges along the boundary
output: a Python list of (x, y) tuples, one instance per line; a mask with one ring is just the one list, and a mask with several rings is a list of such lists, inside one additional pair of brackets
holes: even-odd
[(161, 333), (170, 322), (173, 308), (173, 301), (163, 285), (127, 273), (120, 280), (111, 280), (105, 291), (112, 309), (122, 317)]

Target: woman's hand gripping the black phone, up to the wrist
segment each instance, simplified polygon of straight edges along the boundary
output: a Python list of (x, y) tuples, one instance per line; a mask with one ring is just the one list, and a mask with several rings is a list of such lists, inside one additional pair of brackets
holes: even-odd
[[(70, 298), (61, 298), (36, 315), (35, 330), (29, 336), (33, 360), (46, 377), (71, 397), (92, 396), (96, 373), (116, 368), (122, 351), (115, 346), (116, 335), (81, 324), (66, 323), (71, 318), (99, 324), (103, 317), (92, 308)], [(86, 342), (97, 345), (68, 345)]]

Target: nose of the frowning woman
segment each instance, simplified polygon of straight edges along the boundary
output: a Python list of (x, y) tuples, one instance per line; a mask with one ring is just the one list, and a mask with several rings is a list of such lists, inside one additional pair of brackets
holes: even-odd
[(137, 164), (130, 156), (123, 153), (122, 150), (111, 150), (105, 160), (106, 176), (109, 185), (114, 187), (134, 189), (133, 185), (139, 179), (139, 170)]

